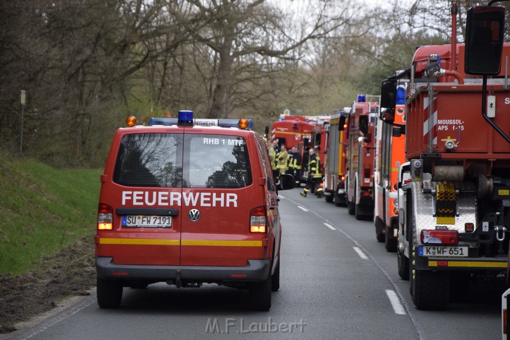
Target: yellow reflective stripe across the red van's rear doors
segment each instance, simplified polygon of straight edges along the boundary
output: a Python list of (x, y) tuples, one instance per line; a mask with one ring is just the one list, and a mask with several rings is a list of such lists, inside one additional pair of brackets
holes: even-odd
[(220, 247), (262, 247), (262, 241), (228, 240), (162, 240), (162, 239), (110, 239), (100, 238), (99, 244), (131, 244), (158, 246), (220, 246)]

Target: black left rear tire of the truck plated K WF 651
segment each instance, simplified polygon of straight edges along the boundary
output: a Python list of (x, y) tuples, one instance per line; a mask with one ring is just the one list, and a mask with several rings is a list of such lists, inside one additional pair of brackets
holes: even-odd
[[(421, 310), (442, 310), (450, 302), (450, 273), (416, 270), (410, 263), (410, 290), (413, 302)], [(413, 275), (414, 272), (414, 275)]]

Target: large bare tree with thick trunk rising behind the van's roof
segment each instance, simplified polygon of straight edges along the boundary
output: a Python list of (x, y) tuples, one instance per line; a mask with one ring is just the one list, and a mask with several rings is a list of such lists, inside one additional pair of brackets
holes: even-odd
[[(293, 36), (282, 24), (285, 15), (265, 0), (202, 2), (188, 0), (201, 13), (218, 18), (198, 31), (195, 38), (218, 54), (218, 73), (208, 117), (225, 117), (232, 112), (233, 68), (236, 63), (248, 63), (263, 57), (286, 58), (290, 51), (310, 39), (326, 36), (347, 18), (328, 16), (331, 2), (321, 7), (298, 36)], [(207, 4), (207, 5), (206, 5)]]

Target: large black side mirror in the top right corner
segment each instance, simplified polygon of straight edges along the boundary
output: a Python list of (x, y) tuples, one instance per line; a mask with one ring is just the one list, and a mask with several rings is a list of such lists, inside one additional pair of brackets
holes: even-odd
[(499, 74), (504, 21), (503, 7), (474, 6), (468, 10), (464, 65), (466, 74)]

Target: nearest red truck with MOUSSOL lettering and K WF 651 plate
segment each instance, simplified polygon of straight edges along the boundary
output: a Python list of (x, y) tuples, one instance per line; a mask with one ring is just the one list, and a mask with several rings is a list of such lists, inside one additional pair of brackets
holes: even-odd
[[(510, 91), (504, 8), (468, 11), (466, 45), (423, 46), (410, 68), (399, 171), (398, 273), (418, 309), (444, 309), (470, 280), (507, 276)], [(452, 13), (456, 11), (453, 11)], [(488, 79), (490, 77), (490, 79)], [(392, 122), (396, 82), (381, 90)], [(506, 133), (505, 133), (506, 132)]]

